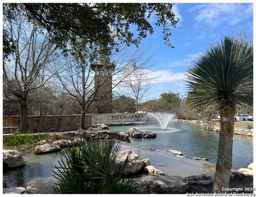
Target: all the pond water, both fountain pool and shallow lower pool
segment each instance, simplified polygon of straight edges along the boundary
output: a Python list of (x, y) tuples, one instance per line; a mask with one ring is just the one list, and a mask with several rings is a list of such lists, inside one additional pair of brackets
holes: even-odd
[[(166, 130), (160, 129), (157, 124), (111, 126), (110, 130), (126, 132), (130, 127), (156, 132), (157, 137), (155, 139), (131, 139), (131, 143), (122, 142), (122, 150), (132, 150), (140, 156), (139, 159), (149, 158), (151, 165), (163, 173), (181, 177), (214, 174), (213, 169), (206, 167), (207, 161), (177, 158), (166, 150), (175, 149), (188, 157), (206, 157), (211, 162), (215, 162), (218, 154), (218, 133), (202, 131), (197, 124), (177, 122), (167, 125)], [(150, 151), (147, 147), (159, 151)], [(253, 162), (253, 138), (234, 135), (233, 147), (233, 168), (247, 167)], [(19, 147), (4, 146), (3, 149), (19, 150)], [(53, 185), (56, 182), (53, 177), (53, 167), (58, 166), (60, 158), (64, 158), (62, 152), (46, 155), (21, 152), (26, 166), (4, 170), (3, 179), (7, 186)], [(142, 174), (138, 175), (138, 178), (149, 180), (151, 176)]]

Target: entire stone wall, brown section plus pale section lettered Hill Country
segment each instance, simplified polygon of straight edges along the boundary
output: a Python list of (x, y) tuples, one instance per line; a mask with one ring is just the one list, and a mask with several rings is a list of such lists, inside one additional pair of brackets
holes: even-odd
[[(58, 132), (58, 131), (75, 131), (80, 127), (80, 115), (62, 115), (62, 116), (28, 116), (28, 132)], [(85, 118), (86, 127), (93, 123), (115, 124), (132, 124), (150, 122), (147, 114), (87, 114)], [(3, 132), (9, 133), (10, 127), (18, 127), (20, 131), (20, 116), (3, 116)], [(6, 128), (7, 127), (7, 128)]]

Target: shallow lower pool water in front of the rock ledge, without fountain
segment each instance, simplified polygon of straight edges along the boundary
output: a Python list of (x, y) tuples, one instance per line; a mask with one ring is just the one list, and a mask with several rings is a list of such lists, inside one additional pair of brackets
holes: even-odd
[[(4, 147), (4, 149), (19, 150), (19, 147)], [(169, 151), (149, 151), (137, 144), (122, 142), (121, 150), (132, 150), (139, 159), (149, 158), (151, 165), (167, 175), (187, 177), (191, 175), (209, 174), (214, 170), (205, 166), (207, 161), (196, 161), (187, 158), (177, 158)], [(21, 151), (26, 166), (4, 170), (3, 179), (8, 187), (26, 187), (29, 185), (53, 185), (57, 179), (53, 177), (53, 166), (59, 166), (58, 160), (64, 158), (62, 152), (35, 155), (32, 152)], [(138, 174), (141, 181), (152, 178), (150, 175)]]

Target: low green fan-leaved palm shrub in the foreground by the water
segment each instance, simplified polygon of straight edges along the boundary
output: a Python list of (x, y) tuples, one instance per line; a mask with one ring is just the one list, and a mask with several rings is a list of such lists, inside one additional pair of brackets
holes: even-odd
[(129, 157), (116, 160), (121, 143), (114, 139), (86, 141), (80, 139), (79, 147), (71, 143), (61, 159), (54, 177), (55, 193), (141, 193), (141, 186), (132, 178), (121, 177)]

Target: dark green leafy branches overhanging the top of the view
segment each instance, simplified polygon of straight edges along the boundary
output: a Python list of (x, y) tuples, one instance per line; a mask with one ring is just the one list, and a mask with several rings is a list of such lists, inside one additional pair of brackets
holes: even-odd
[[(64, 49), (68, 41), (82, 39), (91, 47), (100, 46), (101, 53), (109, 53), (118, 43), (116, 40), (119, 44), (138, 46), (148, 33), (153, 34), (152, 15), (157, 17), (154, 24), (163, 27), (165, 43), (173, 47), (169, 36), (179, 19), (175, 18), (172, 6), (172, 3), (5, 3), (3, 11), (9, 18), (25, 11), (30, 21), (40, 23), (54, 43)], [(136, 35), (131, 25), (137, 28)]]

